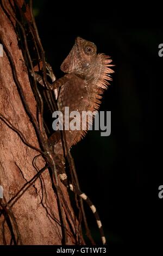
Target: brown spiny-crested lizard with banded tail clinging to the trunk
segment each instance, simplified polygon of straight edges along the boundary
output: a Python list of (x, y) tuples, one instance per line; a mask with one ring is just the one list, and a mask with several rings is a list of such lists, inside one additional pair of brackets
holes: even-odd
[[(66, 74), (58, 80), (55, 80), (52, 84), (49, 84), (49, 88), (54, 90), (55, 96), (57, 95), (59, 111), (64, 114), (66, 106), (69, 107), (70, 112), (78, 111), (80, 114), (82, 114), (82, 111), (97, 111), (101, 103), (102, 94), (104, 90), (108, 88), (109, 80), (112, 80), (110, 74), (114, 71), (110, 69), (110, 66), (114, 65), (110, 64), (111, 62), (112, 60), (109, 56), (106, 56), (103, 53), (97, 53), (97, 47), (93, 42), (77, 37), (70, 53), (60, 66), (61, 71)], [(39, 75), (37, 75), (36, 78), (43, 86), (43, 81)], [(60, 91), (56, 94), (58, 88), (60, 88)], [(90, 125), (91, 119), (88, 117), (86, 130), (64, 131), (68, 150), (86, 135)], [(82, 127), (82, 124), (80, 124), (80, 126)], [(60, 171), (60, 180), (68, 187), (64, 166), (61, 167), (64, 151), (60, 132), (54, 132), (48, 138), (48, 145), (49, 147), (53, 147), (54, 152), (57, 153), (57, 155), (54, 155), (55, 160), (58, 162), (57, 167), (58, 169), (63, 169), (63, 171)], [(102, 223), (95, 206), (86, 194), (79, 190), (79, 188), (74, 187), (72, 184), (69, 184), (69, 187), (70, 190), (76, 192), (87, 202), (87, 204), (89, 204), (96, 217), (103, 245), (105, 245), (106, 239)]]

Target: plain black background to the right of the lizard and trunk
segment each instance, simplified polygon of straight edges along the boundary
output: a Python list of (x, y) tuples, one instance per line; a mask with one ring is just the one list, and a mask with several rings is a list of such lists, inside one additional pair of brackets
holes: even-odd
[[(60, 64), (77, 36), (95, 42), (115, 64), (99, 109), (111, 111), (111, 135), (90, 131), (72, 154), (80, 186), (97, 206), (108, 244), (150, 247), (162, 239), (162, 167), (157, 164), (160, 150), (153, 143), (159, 142), (156, 92), (162, 87), (162, 15), (159, 7), (116, 4), (34, 1), (34, 14), (57, 78), (63, 75)], [(99, 242), (89, 209), (87, 215)]]

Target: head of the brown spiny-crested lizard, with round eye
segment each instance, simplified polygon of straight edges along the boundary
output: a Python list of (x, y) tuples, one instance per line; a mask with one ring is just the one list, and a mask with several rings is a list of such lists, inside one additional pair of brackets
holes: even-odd
[(97, 47), (93, 42), (77, 37), (70, 53), (61, 64), (65, 73), (74, 73), (81, 77), (90, 77), (96, 66)]

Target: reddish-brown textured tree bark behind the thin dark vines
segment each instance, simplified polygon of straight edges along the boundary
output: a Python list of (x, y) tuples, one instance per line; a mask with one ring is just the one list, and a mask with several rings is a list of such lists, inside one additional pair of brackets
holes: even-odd
[[(7, 5), (8, 1), (5, 1)], [(8, 4), (8, 8), (10, 5)], [(0, 7), (0, 38), (3, 40), (7, 51), (10, 52), (16, 69), (18, 81), (28, 102), (30, 111), (36, 118), (36, 101), (30, 88), (26, 66), (23, 64), (22, 51), (18, 47), (17, 35), (8, 16)], [(1, 41), (0, 41), (1, 42)], [(4, 46), (3, 45), (3, 46)], [(9, 57), (3, 51), (0, 57), (0, 112), (10, 123), (20, 130), (26, 140), (39, 148), (34, 127), (24, 110), (20, 94), (14, 80)], [(37, 173), (32, 161), (39, 153), (27, 147), (7, 124), (0, 119), (0, 185), (3, 186), (4, 198), (0, 199), (1, 206), (5, 205), (27, 181)], [(42, 156), (36, 160), (38, 169), (45, 166)], [(46, 169), (42, 173), (43, 191), (40, 179), (28, 188), (11, 207), (6, 208), (9, 212), (13, 233), (18, 244), (23, 245), (59, 245), (62, 234), (60, 216), (57, 204), (57, 196), (52, 188), (52, 181)], [(67, 190), (61, 185), (65, 200), (71, 209)], [(43, 202), (41, 203), (43, 193)], [(2, 209), (2, 208), (1, 208)], [(47, 214), (48, 211), (48, 214)], [(72, 212), (72, 210), (71, 210)], [(72, 212), (73, 214), (73, 212)], [(7, 218), (5, 219), (7, 220)], [(58, 221), (57, 221), (58, 220)], [(66, 221), (66, 218), (65, 218)], [(0, 217), (0, 244), (10, 244), (11, 229), (8, 222), (4, 221), (4, 214)], [(74, 239), (69, 230), (68, 243), (73, 244)], [(12, 241), (13, 243), (13, 241)]]

